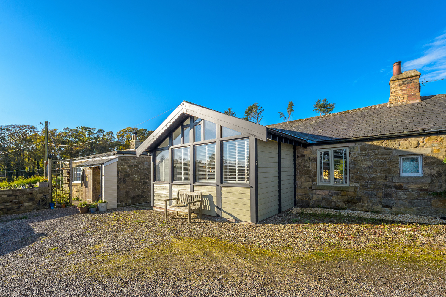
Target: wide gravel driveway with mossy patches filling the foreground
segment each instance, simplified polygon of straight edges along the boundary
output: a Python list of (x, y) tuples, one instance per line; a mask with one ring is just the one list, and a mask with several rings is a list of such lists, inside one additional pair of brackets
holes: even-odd
[(0, 296), (445, 296), (445, 225), (121, 207), (0, 217)]

